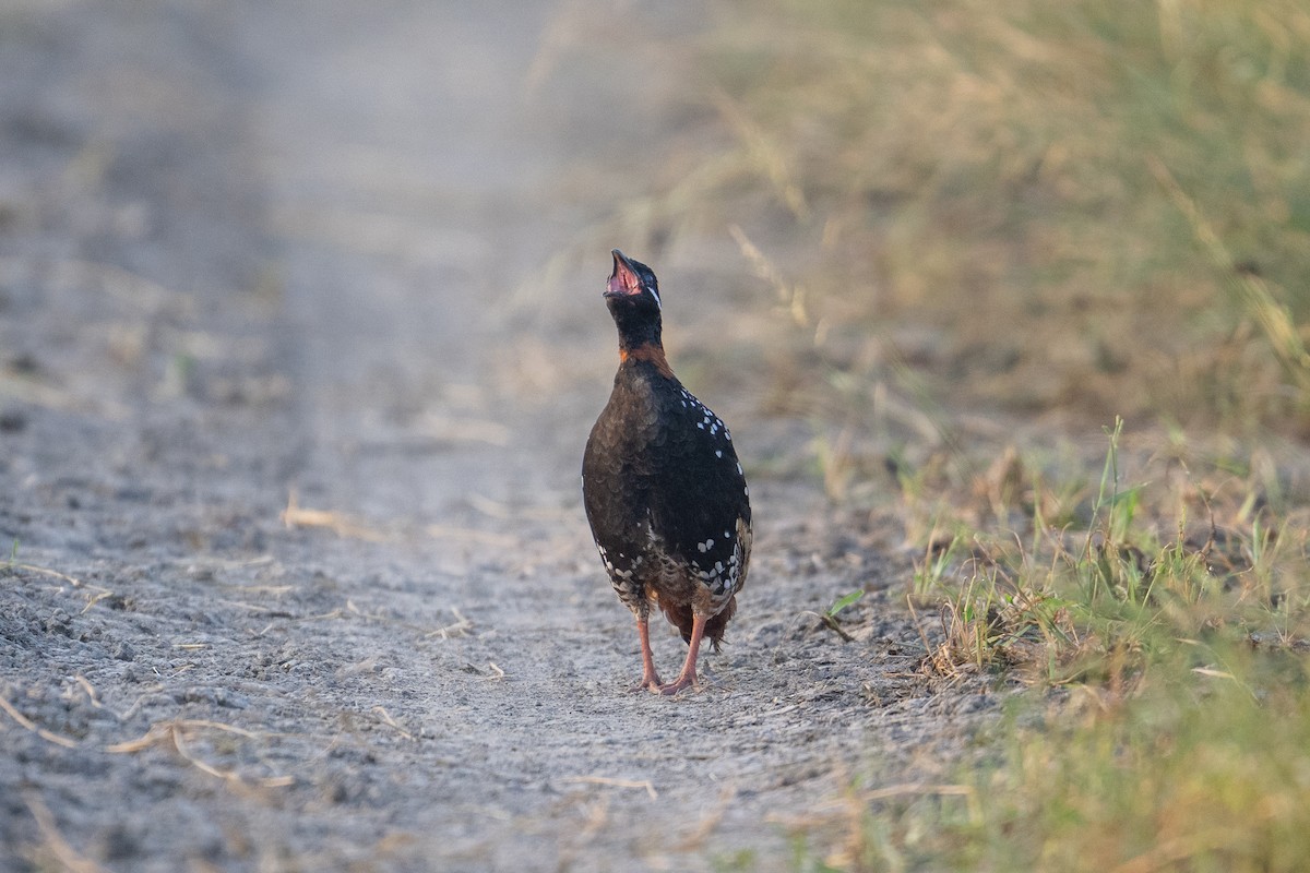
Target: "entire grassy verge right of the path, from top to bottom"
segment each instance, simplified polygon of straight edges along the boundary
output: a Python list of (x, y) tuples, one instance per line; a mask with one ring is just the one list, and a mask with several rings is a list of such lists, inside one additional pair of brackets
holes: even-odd
[(854, 785), (793, 866), (1301, 869), (1310, 7), (717, 10), (727, 147), (642, 221), (736, 241), (765, 404), (814, 423), (829, 496), (892, 472), (925, 669), (1027, 687), (939, 784)]

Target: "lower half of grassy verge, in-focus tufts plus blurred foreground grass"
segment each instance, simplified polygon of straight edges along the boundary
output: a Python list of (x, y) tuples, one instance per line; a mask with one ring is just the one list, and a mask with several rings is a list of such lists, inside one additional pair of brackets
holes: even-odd
[(1018, 452), (994, 487), (904, 493), (954, 530), (907, 582), (942, 615), (925, 669), (1028, 690), (941, 784), (853, 788), (796, 869), (1301, 869), (1310, 512), (1121, 423), (1107, 444), (1099, 478)]

